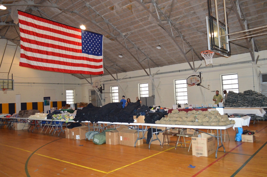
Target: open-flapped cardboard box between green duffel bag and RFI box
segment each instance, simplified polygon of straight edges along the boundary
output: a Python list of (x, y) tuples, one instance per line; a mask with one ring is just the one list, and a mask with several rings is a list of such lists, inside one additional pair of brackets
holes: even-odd
[(116, 130), (106, 131), (106, 144), (108, 145), (118, 145), (120, 144), (120, 131), (122, 129), (127, 129), (126, 125), (121, 125), (116, 128)]

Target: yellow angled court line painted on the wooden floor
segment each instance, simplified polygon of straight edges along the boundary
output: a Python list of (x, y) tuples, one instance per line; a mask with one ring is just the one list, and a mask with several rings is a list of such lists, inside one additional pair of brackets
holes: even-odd
[[(0, 144), (0, 145), (3, 145), (3, 144)], [(18, 147), (13, 147), (13, 146), (8, 146), (8, 145), (3, 145), (3, 146), (12, 147), (12, 148), (15, 148), (15, 149), (19, 149), (19, 150), (22, 150), (22, 151), (26, 151), (26, 152), (32, 153), (31, 151), (24, 150), (24, 149), (21, 149), (21, 148), (18, 148)], [(178, 145), (178, 146), (180, 146), (180, 145)], [(105, 171), (97, 170), (97, 169), (95, 169), (95, 168), (86, 167), (86, 166), (83, 166), (83, 165), (79, 165), (79, 164), (76, 164), (76, 163), (68, 162), (68, 161), (65, 161), (65, 160), (56, 159), (56, 158), (49, 157), (49, 156), (42, 155), (42, 154), (38, 154), (38, 153), (34, 153), (34, 154), (36, 154), (36, 155), (40, 155), (40, 156), (43, 156), (43, 157), (47, 157), (47, 158), (50, 158), (50, 159), (58, 160), (58, 161), (60, 161), (60, 162), (65, 162), (65, 163), (68, 163), (68, 164), (72, 164), (72, 165), (75, 165), (75, 166), (79, 166), (79, 167), (87, 168), (87, 169), (89, 169), (89, 170), (94, 170), (94, 171), (98, 171), (98, 172), (101, 172), (101, 173), (109, 174), (109, 173), (112, 173), (112, 172), (114, 172), (114, 171), (120, 170), (120, 169), (122, 169), (122, 168), (128, 167), (128, 166), (130, 166), (130, 165), (132, 165), (132, 164), (135, 164), (135, 163), (137, 163), (137, 162), (141, 162), (142, 160), (146, 160), (146, 159), (148, 159), (148, 158), (150, 158), (150, 157), (153, 157), (153, 156), (155, 156), (155, 155), (158, 155), (158, 154), (161, 154), (161, 153), (166, 152), (166, 151), (168, 151), (168, 150), (171, 150), (171, 149), (173, 149), (173, 148), (175, 148), (175, 147), (171, 147), (171, 148), (169, 148), (169, 149), (166, 149), (166, 150), (161, 151), (161, 152), (159, 152), (159, 153), (150, 155), (150, 156), (148, 156), (148, 157), (146, 157), (146, 158), (140, 159), (140, 160), (138, 160), (138, 161), (135, 161), (135, 162), (133, 162), (133, 163), (130, 163), (130, 164), (125, 165), (125, 166), (122, 166), (122, 167), (120, 167), (120, 168), (117, 168), (117, 169), (112, 170), (112, 171), (109, 171), (109, 172), (105, 172)]]

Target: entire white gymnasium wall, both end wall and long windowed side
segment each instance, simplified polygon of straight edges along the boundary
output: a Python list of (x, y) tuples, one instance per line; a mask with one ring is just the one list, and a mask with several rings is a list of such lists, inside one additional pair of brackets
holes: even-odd
[[(0, 58), (5, 49), (5, 39), (0, 39)], [(14, 56), (14, 51), (16, 46), (9, 42), (3, 57), (2, 65), (0, 68), (0, 78), (7, 79), (7, 73), (11, 65), (12, 58)], [(91, 85), (84, 79), (80, 80), (70, 74), (57, 73), (57, 72), (46, 72), (19, 66), (19, 50), (14, 57), (14, 61), (10, 70), (9, 79), (11, 79), (11, 74), (13, 74), (13, 79), (15, 81), (15, 90), (8, 91), (7, 94), (1, 93), (0, 103), (14, 103), (15, 95), (21, 94), (21, 102), (40, 102), (43, 101), (43, 97), (52, 96), (51, 101), (64, 101), (66, 98), (65, 90), (74, 89), (75, 90), (75, 102), (88, 102), (89, 103), (89, 90), (93, 89)], [(149, 83), (149, 96), (155, 94), (155, 104), (162, 107), (170, 108), (175, 103), (174, 97), (174, 80), (175, 79), (187, 79), (191, 75), (198, 75), (201, 72), (203, 77), (202, 85), (204, 87), (210, 88), (207, 90), (200, 86), (187, 87), (188, 89), (188, 100), (192, 104), (213, 104), (212, 98), (215, 94), (215, 90), (221, 91), (221, 74), (238, 73), (239, 82), (239, 92), (244, 92), (245, 90), (255, 90), (260, 92), (258, 73), (267, 73), (267, 60), (261, 60), (267, 58), (267, 51), (262, 51), (259, 53), (259, 61), (255, 67), (253, 64), (249, 53), (233, 55), (228, 58), (218, 57), (213, 59), (214, 65), (227, 64), (234, 62), (244, 62), (249, 61), (245, 64), (234, 64), (221, 67), (206, 68), (205, 61), (196, 61), (195, 67), (197, 68), (201, 63), (201, 68), (194, 73), (190, 71), (180, 71), (183, 69), (189, 69), (188, 63), (182, 63), (177, 65), (169, 65), (160, 68), (151, 68), (151, 75), (156, 73), (154, 76), (154, 83), (156, 88), (152, 90), (152, 81), (149, 76), (143, 70), (119, 73), (118, 79), (122, 79), (119, 82), (113, 81), (113, 77), (110, 75), (103, 76), (102, 78), (93, 77), (92, 81), (98, 79), (101, 84), (105, 84), (105, 90), (103, 92), (110, 92), (111, 86), (119, 86), (119, 100), (122, 95), (126, 98), (130, 98), (132, 102), (135, 102), (135, 97), (138, 96), (138, 84)], [(193, 66), (193, 64), (191, 63)], [(146, 70), (149, 73), (149, 70)], [(165, 73), (170, 71), (177, 71), (172, 73)], [(140, 77), (142, 76), (142, 77)], [(116, 77), (116, 75), (114, 75)], [(131, 79), (129, 79), (131, 77)], [(110, 81), (111, 79), (111, 81)], [(91, 82), (91, 79), (88, 78)], [(49, 84), (50, 83), (50, 84)], [(54, 84), (51, 84), (54, 83)], [(59, 83), (59, 84), (57, 84)], [(154, 93), (153, 93), (154, 91)], [(46, 94), (45, 94), (46, 93)], [(49, 94), (49, 95), (47, 95)], [(102, 98), (105, 98), (104, 104), (111, 102), (111, 94), (104, 93)]]

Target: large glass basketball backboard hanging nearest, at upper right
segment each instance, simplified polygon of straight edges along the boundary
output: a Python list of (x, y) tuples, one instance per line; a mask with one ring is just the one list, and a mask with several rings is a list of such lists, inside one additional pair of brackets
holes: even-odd
[[(219, 31), (217, 19), (213, 16), (206, 17), (208, 50), (223, 56), (231, 55), (230, 43), (228, 41), (225, 24), (219, 21)], [(229, 29), (227, 30), (229, 34)]]

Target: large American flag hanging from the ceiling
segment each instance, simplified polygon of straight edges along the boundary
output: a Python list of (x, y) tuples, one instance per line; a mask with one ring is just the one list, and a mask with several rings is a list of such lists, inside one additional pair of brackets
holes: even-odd
[(103, 74), (103, 35), (18, 11), (20, 66), (63, 73)]

